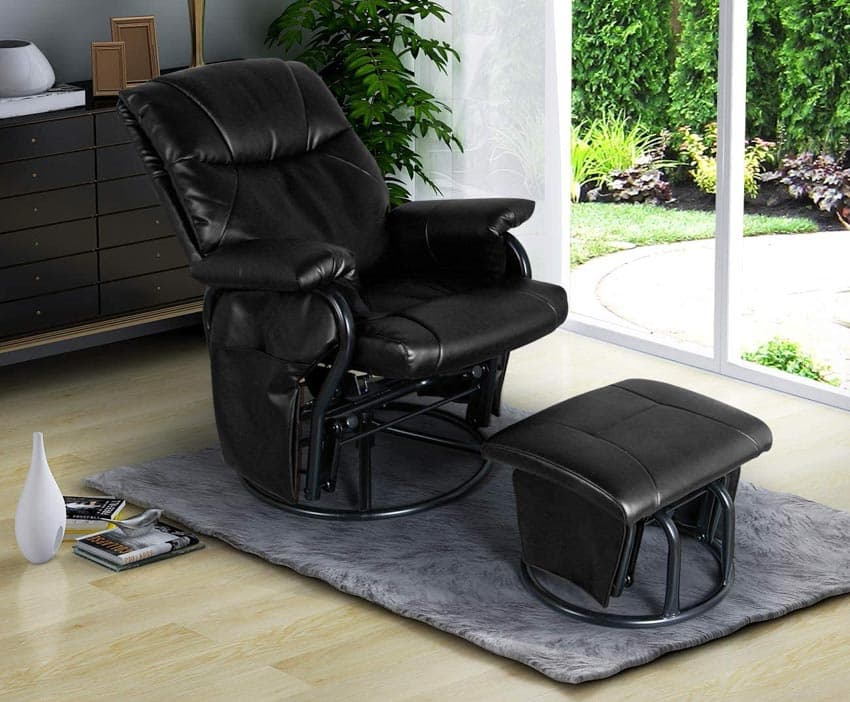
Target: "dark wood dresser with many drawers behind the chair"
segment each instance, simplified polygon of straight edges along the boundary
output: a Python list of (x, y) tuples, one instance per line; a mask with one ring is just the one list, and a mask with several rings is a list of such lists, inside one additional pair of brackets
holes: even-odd
[(0, 353), (195, 313), (113, 105), (0, 120)]

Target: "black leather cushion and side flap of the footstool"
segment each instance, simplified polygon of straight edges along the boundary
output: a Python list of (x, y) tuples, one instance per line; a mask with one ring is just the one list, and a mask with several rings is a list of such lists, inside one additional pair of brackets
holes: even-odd
[(736, 484), (739, 467), (772, 441), (746, 412), (632, 379), (532, 415), (482, 452), (516, 469), (526, 562), (607, 605), (629, 529), (718, 478)]

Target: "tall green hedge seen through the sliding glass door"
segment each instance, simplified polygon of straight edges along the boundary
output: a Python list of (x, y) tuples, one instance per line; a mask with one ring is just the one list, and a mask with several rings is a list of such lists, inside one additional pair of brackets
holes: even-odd
[[(717, 119), (718, 0), (575, 0), (576, 121)], [(673, 36), (671, 24), (676, 29)], [(850, 0), (749, 0), (747, 134), (840, 154), (850, 137)], [(666, 76), (669, 74), (669, 80)]]

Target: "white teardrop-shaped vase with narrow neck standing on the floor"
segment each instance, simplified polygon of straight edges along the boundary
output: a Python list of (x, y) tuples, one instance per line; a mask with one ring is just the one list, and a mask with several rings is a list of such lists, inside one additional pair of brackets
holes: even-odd
[(32, 462), (15, 510), (15, 539), (30, 563), (56, 555), (65, 536), (65, 500), (44, 454), (44, 436), (32, 435)]

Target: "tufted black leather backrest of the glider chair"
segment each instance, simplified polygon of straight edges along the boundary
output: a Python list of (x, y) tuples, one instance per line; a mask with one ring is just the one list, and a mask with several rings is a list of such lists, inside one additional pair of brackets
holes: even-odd
[(327, 241), (358, 270), (383, 254), (387, 188), (321, 78), (247, 59), (125, 90), (119, 112), (192, 258), (247, 239)]

